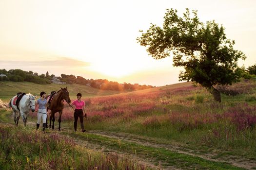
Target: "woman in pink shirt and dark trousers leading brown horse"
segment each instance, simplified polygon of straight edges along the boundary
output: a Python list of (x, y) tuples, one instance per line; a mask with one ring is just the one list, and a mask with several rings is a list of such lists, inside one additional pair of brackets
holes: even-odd
[(78, 93), (77, 94), (78, 100), (72, 102), (72, 105), (76, 106), (76, 109), (75, 109), (75, 112), (74, 112), (74, 118), (75, 118), (74, 129), (75, 129), (75, 132), (77, 131), (78, 118), (80, 119), (82, 132), (85, 132), (84, 125), (83, 125), (83, 112), (86, 115), (85, 103), (81, 100), (81, 97), (82, 97), (82, 94)]

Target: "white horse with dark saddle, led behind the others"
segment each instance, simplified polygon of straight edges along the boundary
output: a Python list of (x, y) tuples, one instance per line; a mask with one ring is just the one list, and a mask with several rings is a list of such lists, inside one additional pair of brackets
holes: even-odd
[(37, 96), (34, 96), (30, 93), (22, 96), (19, 102), (20, 111), (18, 110), (17, 106), (13, 104), (13, 100), (15, 99), (15, 97), (17, 97), (17, 95), (14, 96), (9, 102), (9, 107), (12, 107), (13, 109), (13, 117), (14, 117), (15, 125), (18, 126), (19, 119), (21, 116), (24, 126), (26, 126), (27, 116), (29, 114), (30, 109), (32, 112), (35, 112), (35, 99), (37, 98)]

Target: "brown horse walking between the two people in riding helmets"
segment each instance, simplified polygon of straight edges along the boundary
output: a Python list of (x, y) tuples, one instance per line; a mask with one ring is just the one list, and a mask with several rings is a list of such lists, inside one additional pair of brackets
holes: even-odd
[[(61, 87), (60, 87), (61, 88)], [(47, 96), (46, 100), (50, 97)], [(64, 100), (67, 103), (70, 103), (71, 100), (69, 98), (69, 92), (66, 88), (61, 88), (58, 92), (56, 92), (52, 98), (52, 101), (50, 102), (50, 106), (47, 104), (47, 109), (51, 110), (51, 115), (50, 115), (50, 128), (52, 126), (52, 129), (54, 129), (54, 121), (55, 121), (55, 113), (59, 112), (59, 131), (60, 131), (60, 122), (61, 122), (61, 114), (62, 110), (64, 107)], [(53, 120), (53, 125), (52, 125), (52, 120)], [(47, 124), (47, 120), (46, 120)]]

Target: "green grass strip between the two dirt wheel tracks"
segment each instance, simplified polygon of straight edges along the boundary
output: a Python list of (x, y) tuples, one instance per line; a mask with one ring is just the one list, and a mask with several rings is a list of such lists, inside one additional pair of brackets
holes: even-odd
[(121, 141), (119, 139), (99, 136), (94, 134), (69, 134), (70, 136), (97, 143), (109, 149), (120, 152), (136, 154), (146, 159), (153, 159), (155, 164), (158, 162), (164, 166), (175, 166), (181, 169), (197, 169), (197, 170), (243, 170), (226, 163), (208, 161), (197, 156), (186, 155), (182, 153), (172, 152), (164, 148), (155, 148), (139, 145), (134, 142)]

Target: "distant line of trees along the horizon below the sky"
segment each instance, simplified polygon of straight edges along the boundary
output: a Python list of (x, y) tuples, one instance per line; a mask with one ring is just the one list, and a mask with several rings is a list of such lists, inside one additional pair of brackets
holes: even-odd
[[(33, 71), (23, 71), (21, 69), (10, 69), (7, 71), (6, 69), (0, 69), (0, 81), (12, 81), (12, 82), (32, 82), (36, 84), (51, 84), (52, 78), (55, 77), (54, 74), (49, 75), (48, 71), (46, 74), (38, 74)], [(85, 79), (81, 76), (75, 75), (66, 75), (61, 74), (58, 77), (61, 82), (65, 82), (67, 84), (79, 84), (79, 85), (87, 85), (93, 88), (98, 88), (102, 90), (143, 90), (147, 88), (152, 88), (152, 85), (138, 85), (138, 84), (130, 84), (123, 83), (119, 84), (118, 82), (108, 81), (107, 79)]]

